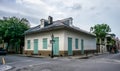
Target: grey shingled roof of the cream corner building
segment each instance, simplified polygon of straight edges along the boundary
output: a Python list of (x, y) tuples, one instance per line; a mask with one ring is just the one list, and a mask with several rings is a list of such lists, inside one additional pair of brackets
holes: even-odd
[(25, 34), (44, 32), (44, 31), (50, 31), (50, 30), (55, 30), (55, 29), (70, 29), (70, 30), (74, 30), (76, 32), (82, 32), (82, 33), (87, 34), (87, 35), (95, 36), (95, 34), (92, 34), (90, 32), (82, 30), (82, 29), (75, 27), (73, 25), (69, 26), (63, 20), (54, 21), (53, 24), (45, 26), (44, 28), (40, 28), (40, 25), (32, 27), (32, 28), (28, 29), (27, 31), (25, 31)]

